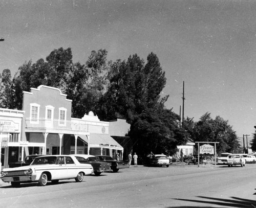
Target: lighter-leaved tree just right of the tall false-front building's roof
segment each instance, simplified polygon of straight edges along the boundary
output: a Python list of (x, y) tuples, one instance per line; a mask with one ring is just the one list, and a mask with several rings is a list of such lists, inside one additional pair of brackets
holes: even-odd
[(71, 68), (66, 93), (72, 102), (73, 117), (81, 118), (89, 111), (97, 112), (97, 103), (105, 93), (108, 83), (108, 52), (92, 51), (85, 65), (79, 62)]

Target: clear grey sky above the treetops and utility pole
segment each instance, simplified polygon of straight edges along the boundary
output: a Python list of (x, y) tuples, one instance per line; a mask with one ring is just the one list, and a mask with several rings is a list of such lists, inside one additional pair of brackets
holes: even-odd
[(159, 58), (166, 108), (227, 120), (239, 137), (256, 125), (256, 1), (0, 0), (0, 73), (71, 48), (73, 62)]

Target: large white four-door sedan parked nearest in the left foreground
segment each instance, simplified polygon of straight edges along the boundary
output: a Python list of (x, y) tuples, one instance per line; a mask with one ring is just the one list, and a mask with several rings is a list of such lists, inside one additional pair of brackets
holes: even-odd
[(74, 156), (45, 155), (36, 157), (29, 166), (3, 169), (0, 178), (4, 182), (11, 182), (12, 187), (28, 182), (46, 186), (48, 181), (58, 183), (63, 179), (74, 178), (81, 182), (84, 175), (92, 173), (93, 167), (90, 164), (80, 164)]

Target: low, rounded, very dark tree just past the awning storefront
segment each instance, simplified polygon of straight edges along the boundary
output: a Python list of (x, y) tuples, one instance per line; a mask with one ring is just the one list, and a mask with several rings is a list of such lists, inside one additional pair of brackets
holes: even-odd
[(183, 145), (188, 138), (178, 121), (179, 116), (172, 110), (147, 108), (131, 125), (129, 135), (134, 140), (134, 151), (142, 155), (174, 154), (177, 145)]

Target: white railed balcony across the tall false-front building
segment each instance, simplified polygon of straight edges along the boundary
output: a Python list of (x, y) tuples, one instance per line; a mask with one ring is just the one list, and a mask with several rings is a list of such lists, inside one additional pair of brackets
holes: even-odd
[(83, 122), (68, 121), (68, 120), (48, 120), (45, 118), (26, 118), (25, 129), (38, 130), (46, 132), (88, 132), (88, 127)]

